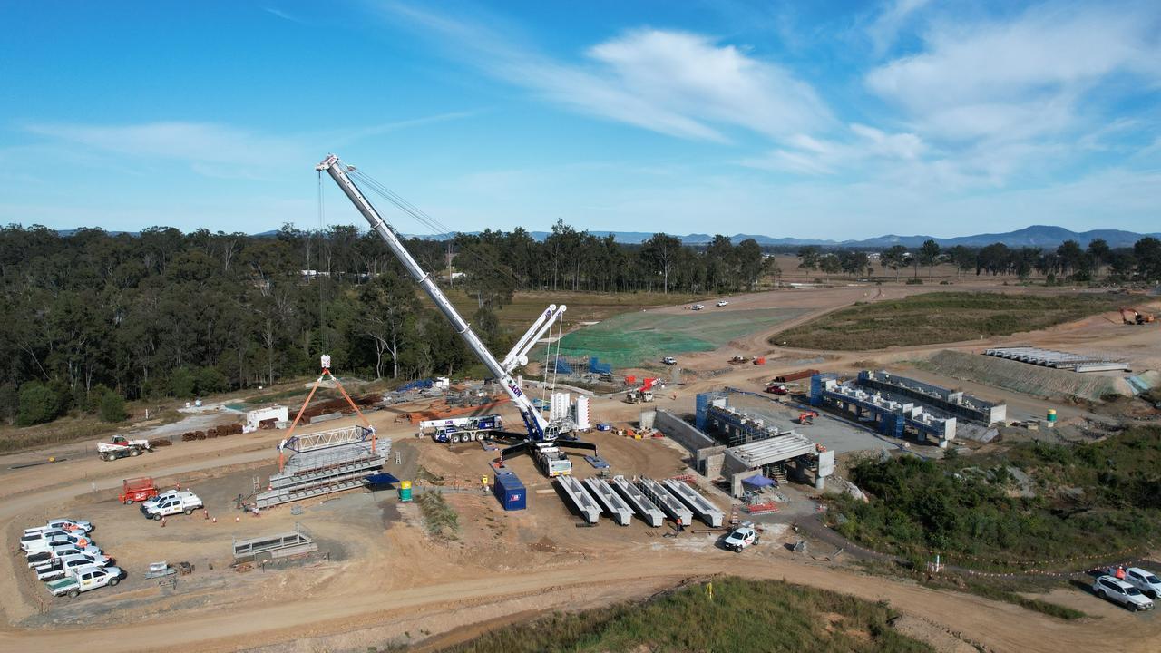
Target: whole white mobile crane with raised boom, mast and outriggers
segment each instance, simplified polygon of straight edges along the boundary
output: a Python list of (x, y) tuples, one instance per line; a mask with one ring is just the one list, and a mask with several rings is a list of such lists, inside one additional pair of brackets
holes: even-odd
[(464, 344), (471, 350), (471, 353), (484, 364), (484, 367), (495, 376), (500, 386), (504, 387), (504, 392), (507, 393), (512, 403), (520, 411), (520, 418), (524, 421), (524, 425), (527, 429), (527, 435), (522, 437), (522, 442), (510, 446), (500, 452), (500, 460), (505, 457), (511, 457), (520, 453), (528, 453), (536, 461), (536, 465), (547, 476), (561, 476), (569, 475), (572, 473), (572, 462), (568, 457), (560, 450), (560, 446), (568, 446), (572, 449), (586, 449), (597, 450), (597, 445), (592, 443), (582, 443), (575, 439), (562, 438), (575, 430), (574, 425), (569, 419), (553, 421), (548, 422), (540, 414), (539, 410), (532, 404), (532, 401), (524, 394), (520, 389), (520, 385), (517, 383), (515, 379), (512, 376), (512, 371), (519, 366), (527, 365), (528, 352), (532, 347), (540, 340), (541, 337), (551, 328), (553, 323), (560, 320), (561, 315), (568, 310), (564, 304), (556, 306), (549, 304), (549, 307), (540, 314), (540, 317), (528, 328), (528, 331), (517, 340), (512, 351), (504, 358), (504, 361), (496, 360), (492, 352), (488, 351), (484, 343), (479, 337), (471, 330), (471, 326), (463, 320), (462, 316), (452, 306), (447, 296), (440, 290), (439, 286), (435, 285), (432, 275), (424, 271), (423, 267), (416, 263), (416, 259), (403, 245), (398, 235), (395, 232), (395, 228), (387, 223), (380, 216), (378, 211), (374, 206), (367, 200), (362, 191), (355, 186), (354, 181), (351, 180), (348, 172), (355, 172), (354, 166), (345, 165), (339, 157), (334, 155), (327, 155), (322, 163), (315, 166), (315, 170), (326, 172), (331, 175), (331, 179), (339, 186), (342, 193), (351, 200), (351, 203), (355, 206), (370, 228), (380, 238), (387, 244), (395, 254), (399, 263), (403, 264), (404, 270), (408, 274), (419, 284), (419, 287), (427, 293), (435, 307), (444, 314), (444, 317), (452, 324), (452, 328), (456, 333), (463, 338)]

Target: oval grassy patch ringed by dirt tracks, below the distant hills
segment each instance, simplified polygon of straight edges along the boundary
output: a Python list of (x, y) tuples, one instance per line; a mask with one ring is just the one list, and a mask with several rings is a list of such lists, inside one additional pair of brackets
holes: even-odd
[(929, 293), (859, 303), (771, 338), (772, 344), (813, 350), (875, 350), (1008, 336), (1046, 329), (1105, 310), (1108, 295), (1008, 295)]

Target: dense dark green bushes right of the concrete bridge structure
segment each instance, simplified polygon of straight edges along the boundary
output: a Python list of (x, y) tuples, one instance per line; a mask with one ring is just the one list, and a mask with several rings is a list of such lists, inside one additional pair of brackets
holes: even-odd
[[(1034, 496), (1019, 495), (1010, 468), (1031, 478), (1023, 489)], [(871, 500), (836, 498), (838, 532), (880, 551), (939, 552), (966, 567), (1102, 559), (1161, 536), (1158, 428), (1072, 447), (1018, 444), (985, 460), (865, 461), (850, 478)]]

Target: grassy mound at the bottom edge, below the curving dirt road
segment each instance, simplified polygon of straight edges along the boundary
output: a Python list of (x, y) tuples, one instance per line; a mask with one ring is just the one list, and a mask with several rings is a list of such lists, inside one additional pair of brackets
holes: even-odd
[(555, 613), (488, 632), (447, 653), (610, 651), (896, 653), (931, 651), (893, 630), (895, 613), (872, 603), (778, 581), (723, 577), (639, 604)]

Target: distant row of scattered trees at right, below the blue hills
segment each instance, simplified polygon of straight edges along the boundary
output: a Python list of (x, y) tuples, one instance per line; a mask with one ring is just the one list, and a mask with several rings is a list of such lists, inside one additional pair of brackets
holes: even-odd
[(982, 247), (956, 245), (943, 249), (935, 241), (925, 241), (916, 251), (903, 245), (892, 245), (878, 253), (878, 261), (868, 252), (842, 250), (825, 252), (817, 246), (798, 251), (799, 268), (823, 274), (874, 275), (875, 263), (884, 271), (890, 270), (896, 279), (900, 271), (914, 268), (929, 271), (940, 264), (952, 264), (961, 274), (1015, 275), (1026, 279), (1037, 273), (1051, 281), (1088, 282), (1105, 278), (1112, 282), (1161, 282), (1161, 241), (1146, 236), (1131, 247), (1110, 247), (1102, 238), (1082, 247), (1076, 241), (1065, 241), (1055, 249), (1009, 247), (993, 243)]

